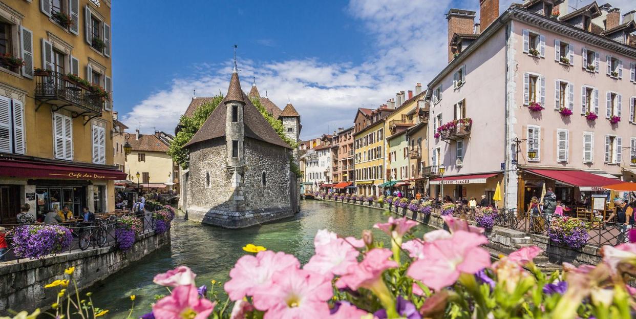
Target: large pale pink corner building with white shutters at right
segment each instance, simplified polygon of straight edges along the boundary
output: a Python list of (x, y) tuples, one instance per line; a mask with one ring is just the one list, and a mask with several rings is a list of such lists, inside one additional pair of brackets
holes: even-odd
[[(594, 186), (553, 178), (558, 170), (589, 172), (598, 186), (634, 180), (634, 11), (621, 19), (593, 2), (568, 12), (563, 0), (501, 15), (497, 0), (480, 6), (481, 24), (474, 11), (448, 12), (450, 62), (429, 83), (429, 156), (446, 168), (443, 193), (479, 201), (500, 182), (499, 207), (516, 208), (543, 183), (573, 203)], [(432, 194), (441, 184), (431, 181)]]

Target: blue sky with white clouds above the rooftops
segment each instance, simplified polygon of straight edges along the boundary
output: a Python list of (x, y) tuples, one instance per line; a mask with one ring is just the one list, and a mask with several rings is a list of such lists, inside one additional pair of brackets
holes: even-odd
[(332, 133), (358, 107), (425, 89), (448, 61), (450, 8), (479, 11), (479, 1), (114, 1), (114, 108), (130, 131), (174, 133), (193, 95), (227, 92), (237, 44), (245, 92), (255, 79), (281, 109), (291, 102), (303, 140)]

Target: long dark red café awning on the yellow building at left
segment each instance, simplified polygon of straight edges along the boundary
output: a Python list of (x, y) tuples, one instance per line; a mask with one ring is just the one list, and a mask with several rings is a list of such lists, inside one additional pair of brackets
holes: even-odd
[(31, 179), (118, 180), (126, 179), (128, 174), (104, 168), (38, 163), (26, 160), (0, 160), (0, 176)]

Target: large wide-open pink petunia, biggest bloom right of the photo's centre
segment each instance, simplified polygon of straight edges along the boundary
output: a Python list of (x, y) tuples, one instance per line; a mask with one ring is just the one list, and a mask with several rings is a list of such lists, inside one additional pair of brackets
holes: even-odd
[(485, 236), (467, 231), (424, 243), (424, 259), (414, 261), (406, 274), (439, 291), (453, 285), (460, 273), (474, 274), (490, 266), (490, 254), (479, 247), (485, 243)]

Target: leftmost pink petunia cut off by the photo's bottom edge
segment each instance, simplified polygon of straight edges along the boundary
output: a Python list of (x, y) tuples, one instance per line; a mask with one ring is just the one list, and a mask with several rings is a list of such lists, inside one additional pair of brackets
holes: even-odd
[(213, 309), (214, 302), (199, 298), (195, 285), (178, 286), (172, 289), (172, 294), (156, 302), (153, 315), (156, 319), (205, 319)]

